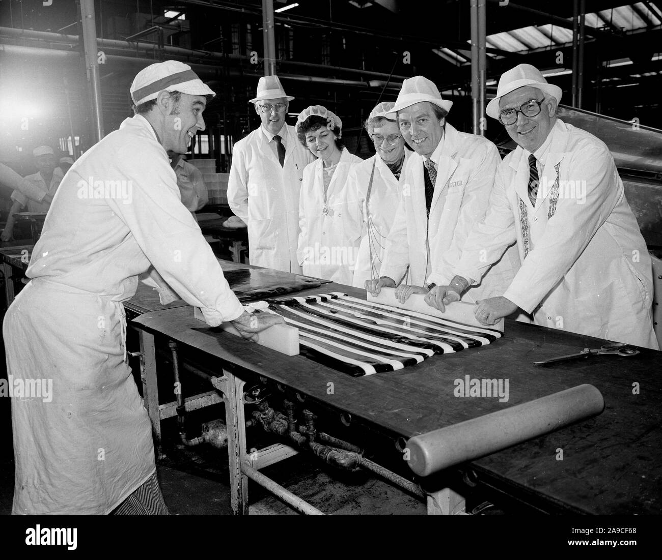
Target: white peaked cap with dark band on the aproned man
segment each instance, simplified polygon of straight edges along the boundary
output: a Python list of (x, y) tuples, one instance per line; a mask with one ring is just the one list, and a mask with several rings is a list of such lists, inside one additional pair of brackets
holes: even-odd
[(150, 64), (138, 72), (131, 84), (131, 99), (134, 104), (140, 105), (156, 99), (164, 89), (189, 95), (216, 95), (188, 64), (178, 60), (166, 60)]

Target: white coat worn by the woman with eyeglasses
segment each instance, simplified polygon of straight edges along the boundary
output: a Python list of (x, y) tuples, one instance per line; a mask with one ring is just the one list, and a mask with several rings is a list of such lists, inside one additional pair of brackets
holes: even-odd
[[(389, 166), (377, 154), (352, 167), (352, 171), (348, 175), (348, 187), (358, 193), (363, 218), (361, 243), (354, 269), (354, 282), (352, 282), (352, 285), (357, 288), (365, 288), (365, 280), (374, 278), (375, 272), (379, 273), (379, 268), (381, 268), (386, 238), (391, 231), (395, 212), (400, 204), (404, 168), (410, 155), (411, 151), (405, 148), (400, 180), (395, 178)], [(375, 164), (375, 174), (366, 206), (373, 163)]]

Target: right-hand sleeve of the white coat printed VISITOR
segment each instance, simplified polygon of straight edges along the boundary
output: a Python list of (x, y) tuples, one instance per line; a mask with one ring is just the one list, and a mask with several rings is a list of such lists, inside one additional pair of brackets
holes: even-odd
[(496, 146), (492, 142), (481, 142), (477, 153), (471, 158), (472, 170), (467, 177), (453, 239), (444, 255), (434, 255), (428, 283), (448, 284), (452, 280), (451, 270), (459, 262), (469, 233), (485, 218), (500, 161)]

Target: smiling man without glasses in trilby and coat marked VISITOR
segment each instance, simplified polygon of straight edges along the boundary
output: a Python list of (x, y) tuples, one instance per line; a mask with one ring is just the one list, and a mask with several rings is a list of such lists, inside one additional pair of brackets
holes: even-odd
[[(382, 286), (395, 288), (404, 302), (446, 284), (471, 227), (485, 216), (496, 166), (496, 146), (482, 136), (459, 132), (446, 122), (453, 102), (442, 99), (423, 76), (406, 79), (387, 117), (397, 117), (404, 140), (415, 153), (404, 171), (402, 197), (386, 241), (380, 278), (365, 289), (374, 296)], [(502, 293), (519, 267), (513, 248), (493, 266), (468, 298)]]

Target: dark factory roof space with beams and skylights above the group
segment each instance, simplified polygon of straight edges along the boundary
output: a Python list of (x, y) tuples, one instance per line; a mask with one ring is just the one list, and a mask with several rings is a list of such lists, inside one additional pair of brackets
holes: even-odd
[[(570, 103), (573, 3), (487, 0), (488, 94), (503, 71), (526, 61)], [(85, 106), (77, 6), (43, 4), (0, 2), (0, 91), (21, 80), (29, 81), (27, 89), (48, 91), (56, 73), (69, 86), (51, 88), (50, 102), (62, 107), (67, 97), (70, 106)], [(301, 104), (327, 104), (354, 127), (416, 74), (433, 79), (460, 113), (469, 107), (470, 4), (273, 0), (277, 73)], [(584, 4), (583, 108), (662, 128), (662, 2)], [(263, 74), (260, 0), (103, 0), (95, 9), (108, 131), (130, 114), (127, 92), (136, 71), (166, 58), (190, 63), (216, 89), (210, 122), (231, 122), (234, 136), (250, 130), (256, 116), (246, 100)], [(292, 110), (303, 106), (295, 102)], [(73, 120), (85, 120), (73, 113)]]

